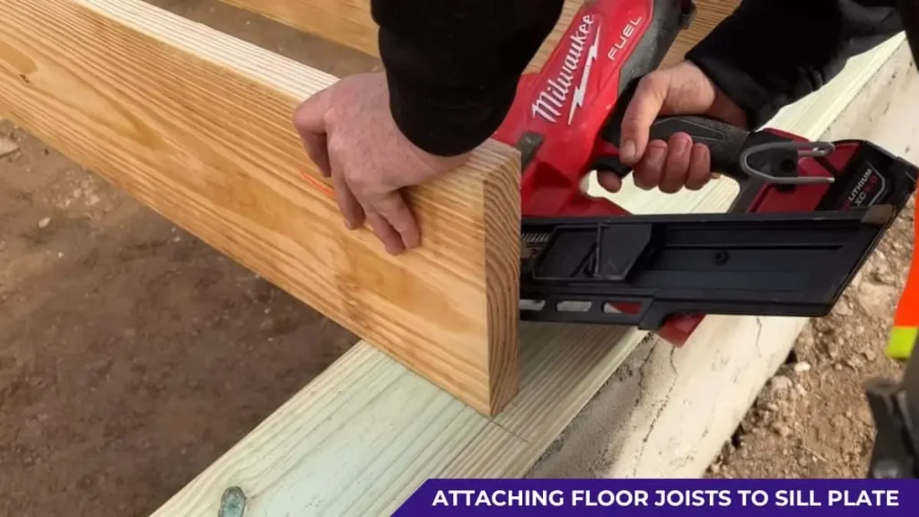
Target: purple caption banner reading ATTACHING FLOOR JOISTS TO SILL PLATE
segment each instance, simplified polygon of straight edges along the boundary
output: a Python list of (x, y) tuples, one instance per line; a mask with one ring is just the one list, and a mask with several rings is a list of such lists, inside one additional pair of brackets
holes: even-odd
[(919, 515), (901, 479), (431, 479), (395, 515)]

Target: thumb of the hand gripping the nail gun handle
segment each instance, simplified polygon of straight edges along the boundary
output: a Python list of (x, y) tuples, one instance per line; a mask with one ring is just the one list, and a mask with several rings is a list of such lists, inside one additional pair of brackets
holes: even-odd
[(641, 160), (648, 146), (651, 124), (661, 112), (669, 88), (670, 76), (665, 72), (652, 72), (639, 81), (635, 95), (622, 115), (622, 141), (619, 145), (622, 163), (633, 166)]

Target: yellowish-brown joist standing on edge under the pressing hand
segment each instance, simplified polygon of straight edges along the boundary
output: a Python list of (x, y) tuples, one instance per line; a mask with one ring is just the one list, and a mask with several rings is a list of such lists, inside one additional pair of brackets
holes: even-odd
[(346, 230), (291, 124), (334, 76), (140, 0), (0, 12), (0, 115), (472, 408), (516, 394), (516, 150), (415, 189), (424, 246), (393, 258)]

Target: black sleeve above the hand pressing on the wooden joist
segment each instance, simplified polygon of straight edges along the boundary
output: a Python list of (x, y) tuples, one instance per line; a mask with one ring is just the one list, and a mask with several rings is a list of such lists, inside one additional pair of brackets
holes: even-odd
[(482, 144), (563, 0), (371, 0), (396, 125), (434, 155)]

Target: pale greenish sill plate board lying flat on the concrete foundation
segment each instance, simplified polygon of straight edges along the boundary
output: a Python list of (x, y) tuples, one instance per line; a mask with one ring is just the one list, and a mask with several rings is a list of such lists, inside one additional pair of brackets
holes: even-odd
[[(818, 137), (902, 42), (851, 60), (768, 125)], [(627, 185), (616, 200), (635, 213), (720, 212), (737, 191), (726, 179), (673, 195)], [(686, 348), (790, 342), (804, 322), (709, 316)], [(525, 325), (520, 339), (520, 394), (494, 419), (361, 341), (154, 516), (214, 515), (227, 488), (248, 498), (246, 517), (388, 515), (430, 477), (524, 476), (632, 350), (654, 338), (633, 328)]]

